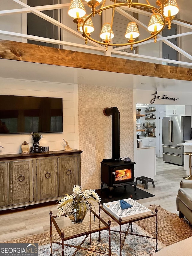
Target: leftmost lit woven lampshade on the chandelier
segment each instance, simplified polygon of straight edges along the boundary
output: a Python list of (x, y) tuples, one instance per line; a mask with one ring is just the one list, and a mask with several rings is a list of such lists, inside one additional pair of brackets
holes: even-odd
[(70, 3), (68, 14), (73, 18), (81, 18), (85, 16), (85, 7), (81, 0), (72, 0)]

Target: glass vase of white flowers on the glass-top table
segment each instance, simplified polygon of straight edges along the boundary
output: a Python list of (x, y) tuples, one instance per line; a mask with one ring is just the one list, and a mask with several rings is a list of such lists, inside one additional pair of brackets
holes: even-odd
[[(64, 211), (67, 212), (71, 222), (73, 223), (81, 223), (85, 218), (87, 211), (91, 208), (91, 200), (97, 203), (101, 202), (101, 198), (95, 192), (95, 190), (85, 189), (81, 190), (81, 187), (76, 185), (73, 186), (73, 194), (68, 195), (64, 194), (63, 197), (58, 201), (59, 209), (57, 216), (61, 217), (64, 214)], [(95, 206), (94, 206), (95, 209)]]

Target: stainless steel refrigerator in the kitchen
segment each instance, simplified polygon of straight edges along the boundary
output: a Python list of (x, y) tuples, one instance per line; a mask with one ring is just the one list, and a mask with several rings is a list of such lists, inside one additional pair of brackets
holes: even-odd
[(162, 119), (163, 161), (184, 165), (184, 147), (177, 144), (190, 140), (191, 132), (191, 116)]

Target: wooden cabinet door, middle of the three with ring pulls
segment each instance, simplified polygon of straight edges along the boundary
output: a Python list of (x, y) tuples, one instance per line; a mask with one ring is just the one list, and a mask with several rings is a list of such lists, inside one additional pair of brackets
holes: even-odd
[(37, 199), (58, 196), (56, 158), (37, 160)]

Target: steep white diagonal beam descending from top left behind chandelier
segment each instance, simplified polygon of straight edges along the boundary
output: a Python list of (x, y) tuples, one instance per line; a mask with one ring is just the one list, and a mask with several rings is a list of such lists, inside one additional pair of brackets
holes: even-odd
[[(82, 35), (80, 35), (78, 32), (76, 32), (73, 29), (65, 26), (64, 24), (60, 23), (59, 21), (54, 20), (53, 18), (49, 17), (48, 15), (46, 15), (46, 14), (44, 14), (44, 13), (42, 13), (42, 12), (36, 10), (36, 9), (34, 9), (33, 7), (31, 7), (29, 5), (26, 5), (25, 3), (22, 3), (19, 0), (12, 0), (12, 1), (16, 2), (17, 4), (21, 5), (22, 7), (29, 8), (32, 11), (33, 14), (36, 14), (37, 16), (43, 18), (44, 20), (47, 20), (48, 22), (54, 24), (55, 26), (58, 26), (59, 28), (66, 30), (67, 32), (75, 35), (76, 37), (80, 38), (81, 40), (84, 40)], [(89, 43), (92, 44), (95, 47), (103, 48), (100, 44), (97, 44), (95, 42), (89, 41)]]

